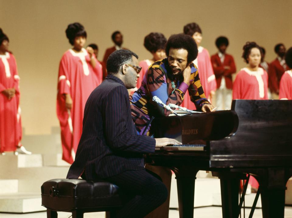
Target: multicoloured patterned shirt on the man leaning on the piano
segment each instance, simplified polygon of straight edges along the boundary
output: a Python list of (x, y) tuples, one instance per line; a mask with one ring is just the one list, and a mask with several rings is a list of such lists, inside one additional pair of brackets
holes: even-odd
[[(184, 94), (189, 90), (191, 101), (201, 109), (207, 100), (200, 82), (197, 67), (191, 63), (190, 85), (183, 82), (183, 76), (173, 76), (167, 58), (154, 62), (144, 75), (141, 87), (130, 96), (131, 112), (138, 134), (142, 134), (152, 116), (168, 116), (165, 108), (153, 102), (157, 96), (166, 105), (182, 103)], [(175, 88), (172, 87), (172, 82)], [(148, 129), (147, 129), (148, 130)]]

